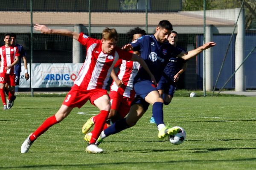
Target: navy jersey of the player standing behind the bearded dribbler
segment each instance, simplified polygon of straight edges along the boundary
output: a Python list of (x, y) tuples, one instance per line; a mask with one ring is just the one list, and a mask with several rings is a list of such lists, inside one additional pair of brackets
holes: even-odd
[[(183, 50), (183, 48), (180, 48), (180, 47), (176, 47), (176, 48), (178, 48), (182, 51), (185, 51), (185, 50)], [(170, 57), (166, 67), (163, 70), (163, 74), (165, 75), (165, 77), (167, 76), (171, 80), (173, 80), (173, 77), (175, 76), (175, 74), (177, 74), (178, 71), (180, 71), (182, 65), (185, 62), (187, 62), (187, 60), (185, 60), (185, 59), (178, 58), (175, 56)]]

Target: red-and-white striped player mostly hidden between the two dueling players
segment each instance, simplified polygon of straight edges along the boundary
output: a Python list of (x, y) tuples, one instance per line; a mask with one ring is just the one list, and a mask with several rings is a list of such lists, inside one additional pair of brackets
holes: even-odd
[[(141, 36), (146, 35), (145, 30), (136, 27), (127, 32), (129, 40), (135, 41)], [(140, 55), (139, 51), (130, 51), (134, 54)], [(103, 130), (112, 125), (116, 120), (124, 118), (131, 107), (131, 103), (134, 100), (135, 91), (133, 89), (133, 80), (137, 75), (140, 69), (140, 63), (133, 61), (126, 61), (124, 59), (119, 59), (116, 62), (114, 68), (119, 67), (118, 75), (116, 76), (115, 72), (111, 72), (111, 77), (113, 79), (111, 88), (110, 88), (110, 102), (111, 109), (108, 115), (108, 121), (105, 124)], [(90, 141), (93, 131), (88, 132), (87, 126), (92, 126), (95, 123), (95, 117), (93, 116), (87, 120), (87, 122), (82, 127), (82, 133), (86, 134), (84, 140), (87, 142)]]

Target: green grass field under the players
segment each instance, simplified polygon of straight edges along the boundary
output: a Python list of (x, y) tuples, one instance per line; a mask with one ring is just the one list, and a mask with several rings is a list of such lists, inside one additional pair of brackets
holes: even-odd
[[(134, 127), (109, 136), (105, 152), (89, 154), (81, 127), (97, 108), (87, 102), (51, 127), (21, 154), (20, 146), (60, 107), (63, 97), (17, 96), (0, 111), (0, 169), (10, 170), (255, 170), (256, 97), (180, 97), (164, 106), (164, 121), (186, 130), (173, 145), (157, 137), (151, 107)], [(200, 95), (198, 95), (200, 96)], [(83, 112), (83, 114), (77, 114)]]

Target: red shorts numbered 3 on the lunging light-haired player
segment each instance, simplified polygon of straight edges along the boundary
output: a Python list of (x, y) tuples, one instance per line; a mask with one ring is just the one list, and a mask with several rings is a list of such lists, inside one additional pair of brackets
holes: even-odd
[(94, 105), (94, 100), (103, 95), (108, 95), (107, 91), (104, 89), (84, 90), (79, 86), (74, 85), (68, 92), (62, 104), (70, 108), (81, 108), (88, 100)]

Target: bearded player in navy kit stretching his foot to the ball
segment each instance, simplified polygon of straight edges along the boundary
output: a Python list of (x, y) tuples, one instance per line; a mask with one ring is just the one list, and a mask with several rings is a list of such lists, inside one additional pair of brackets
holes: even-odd
[[(170, 57), (180, 57), (190, 59), (207, 48), (215, 46), (215, 42), (207, 42), (186, 54), (179, 48), (175, 48), (167, 41), (172, 31), (172, 24), (167, 20), (159, 22), (154, 36), (142, 36), (138, 40), (124, 46), (125, 49), (140, 51), (142, 57), (151, 69), (156, 81), (158, 82), (166, 62)], [(150, 77), (145, 74), (145, 70), (140, 68), (134, 79), (134, 90), (136, 97), (131, 105), (130, 112), (126, 118), (116, 121), (113, 125), (103, 130), (96, 142), (98, 145), (105, 137), (118, 133), (129, 127), (134, 126), (141, 116), (147, 111), (148, 105), (153, 105), (152, 113), (158, 128), (160, 139), (176, 134), (180, 129), (166, 126), (163, 122), (163, 99), (161, 98), (156, 86), (151, 82)]]

